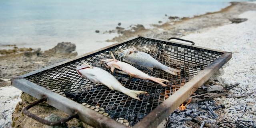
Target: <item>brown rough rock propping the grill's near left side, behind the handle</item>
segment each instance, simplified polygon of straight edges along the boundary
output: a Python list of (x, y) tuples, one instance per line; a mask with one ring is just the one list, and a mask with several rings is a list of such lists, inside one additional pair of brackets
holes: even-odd
[[(25, 116), (22, 113), (22, 108), (30, 104), (30, 102), (36, 100), (32, 96), (22, 93), (21, 96), (22, 102), (18, 102), (16, 105), (16, 108), (12, 114), (12, 127), (21, 127), (21, 128), (58, 128), (56, 126), (51, 127), (44, 124), (41, 124), (37, 122), (36, 120), (33, 120), (32, 118), (29, 118), (28, 116)], [(36, 105), (29, 109), (29, 111), (40, 118), (46, 118), (48, 120), (57, 120), (60, 118), (64, 118), (68, 116), (68, 114), (50, 106), (45, 105), (46, 103), (42, 103), (39, 105)], [(92, 126), (74, 118), (68, 122), (66, 122), (67, 127), (74, 127), (74, 128), (93, 128)]]

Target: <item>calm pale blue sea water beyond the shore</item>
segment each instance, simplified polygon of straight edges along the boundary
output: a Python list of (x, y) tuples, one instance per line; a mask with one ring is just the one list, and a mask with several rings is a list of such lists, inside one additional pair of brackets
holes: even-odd
[[(0, 47), (47, 50), (58, 42), (72, 42), (78, 54), (112, 43), (117, 34), (102, 34), (118, 22), (158, 24), (164, 16), (186, 16), (218, 11), (233, 0), (0, 0)], [(241, 0), (240, 0), (241, 1)], [(100, 30), (100, 33), (95, 33)]]

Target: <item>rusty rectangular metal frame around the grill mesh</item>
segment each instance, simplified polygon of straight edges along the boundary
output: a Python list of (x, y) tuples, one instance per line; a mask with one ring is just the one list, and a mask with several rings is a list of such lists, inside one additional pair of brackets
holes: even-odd
[(204, 47), (194, 46), (190, 44), (173, 42), (169, 40), (161, 40), (157, 38), (136, 36), (136, 37), (124, 40), (122, 42), (118, 42), (116, 44), (112, 44), (110, 46), (101, 48), (99, 50), (95, 50), (93, 52), (83, 54), (81, 56), (72, 58), (70, 60), (60, 62), (52, 66), (48, 66), (46, 68), (42, 68), (40, 70), (30, 72), (28, 74), (24, 74), (17, 78), (13, 78), (11, 80), (12, 86), (15, 86), (16, 88), (30, 94), (31, 96), (34, 96), (37, 99), (41, 99), (42, 97), (46, 96), (48, 104), (70, 115), (77, 112), (79, 115), (79, 119), (82, 120), (83, 122), (86, 122), (87, 124), (90, 124), (91, 126), (100, 127), (100, 128), (127, 128), (127, 126), (125, 126), (124, 124), (121, 124), (111, 118), (103, 116), (102, 114), (99, 114), (98, 112), (95, 112), (94, 110), (91, 110), (90, 108), (87, 108), (82, 104), (74, 102), (73, 100), (70, 100), (55, 92), (47, 90), (46, 88), (39, 86), (33, 82), (30, 82), (25, 78), (28, 76), (43, 72), (45, 70), (72, 62), (74, 60), (84, 58), (86, 56), (100, 52), (102, 50), (106, 50), (108, 48), (112, 48), (114, 46), (126, 43), (136, 38), (148, 38), (148, 39), (158, 40), (158, 41), (167, 42), (167, 43), (169, 42), (169, 43), (183, 45), (183, 46), (190, 46), (194, 48), (220, 52), (222, 53), (222, 55), (218, 57), (214, 62), (209, 64), (206, 68), (204, 68), (200, 73), (194, 76), (194, 78), (186, 82), (186, 84), (182, 88), (180, 88), (175, 93), (170, 95), (169, 98), (164, 100), (161, 104), (158, 104), (158, 106), (154, 108), (154, 110), (152, 110), (148, 115), (142, 118), (142, 120), (140, 120), (138, 123), (132, 126), (134, 128), (156, 128), (158, 124), (160, 124), (165, 118), (167, 118), (168, 115), (170, 115), (180, 104), (182, 104), (192, 93), (194, 93), (204, 82), (206, 82), (206, 80), (208, 80), (210, 76), (212, 76), (219, 68), (221, 68), (232, 57), (232, 52), (214, 50), (210, 48), (204, 48)]

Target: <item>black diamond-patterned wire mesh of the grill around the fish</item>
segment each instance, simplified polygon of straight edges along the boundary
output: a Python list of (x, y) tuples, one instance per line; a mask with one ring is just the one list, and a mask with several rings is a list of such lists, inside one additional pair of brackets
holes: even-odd
[[(181, 70), (181, 72), (178, 73), (178, 76), (174, 76), (162, 70), (154, 69), (151, 72), (146, 68), (134, 66), (150, 76), (169, 80), (166, 87), (152, 81), (130, 78), (127, 75), (116, 73), (115, 78), (126, 88), (148, 92), (148, 94), (139, 95), (140, 101), (121, 92), (110, 90), (104, 85), (94, 84), (86, 78), (80, 77), (76, 72), (76, 67), (86, 62), (111, 73), (109, 69), (100, 64), (100, 60), (112, 58), (110, 51), (118, 58), (118, 53), (131, 46), (150, 54), (166, 66)], [(221, 52), (139, 37), (33, 74), (25, 79), (126, 126), (133, 126), (221, 55)]]

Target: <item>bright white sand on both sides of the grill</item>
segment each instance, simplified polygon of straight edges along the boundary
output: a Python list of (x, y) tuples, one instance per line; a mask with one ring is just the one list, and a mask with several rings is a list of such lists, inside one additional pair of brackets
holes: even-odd
[[(256, 3), (256, 2), (254, 2)], [(231, 90), (229, 97), (256, 90), (256, 11), (244, 12), (240, 18), (248, 18), (239, 24), (206, 28), (181, 38), (193, 40), (196, 46), (233, 52), (232, 59), (224, 66), (221, 80), (226, 84), (240, 83)], [(12, 87), (0, 88), (0, 128), (11, 127), (12, 112), (20, 101), (21, 91)], [(219, 118), (238, 118), (256, 122), (256, 93), (244, 98), (215, 98), (218, 104), (225, 105)]]

